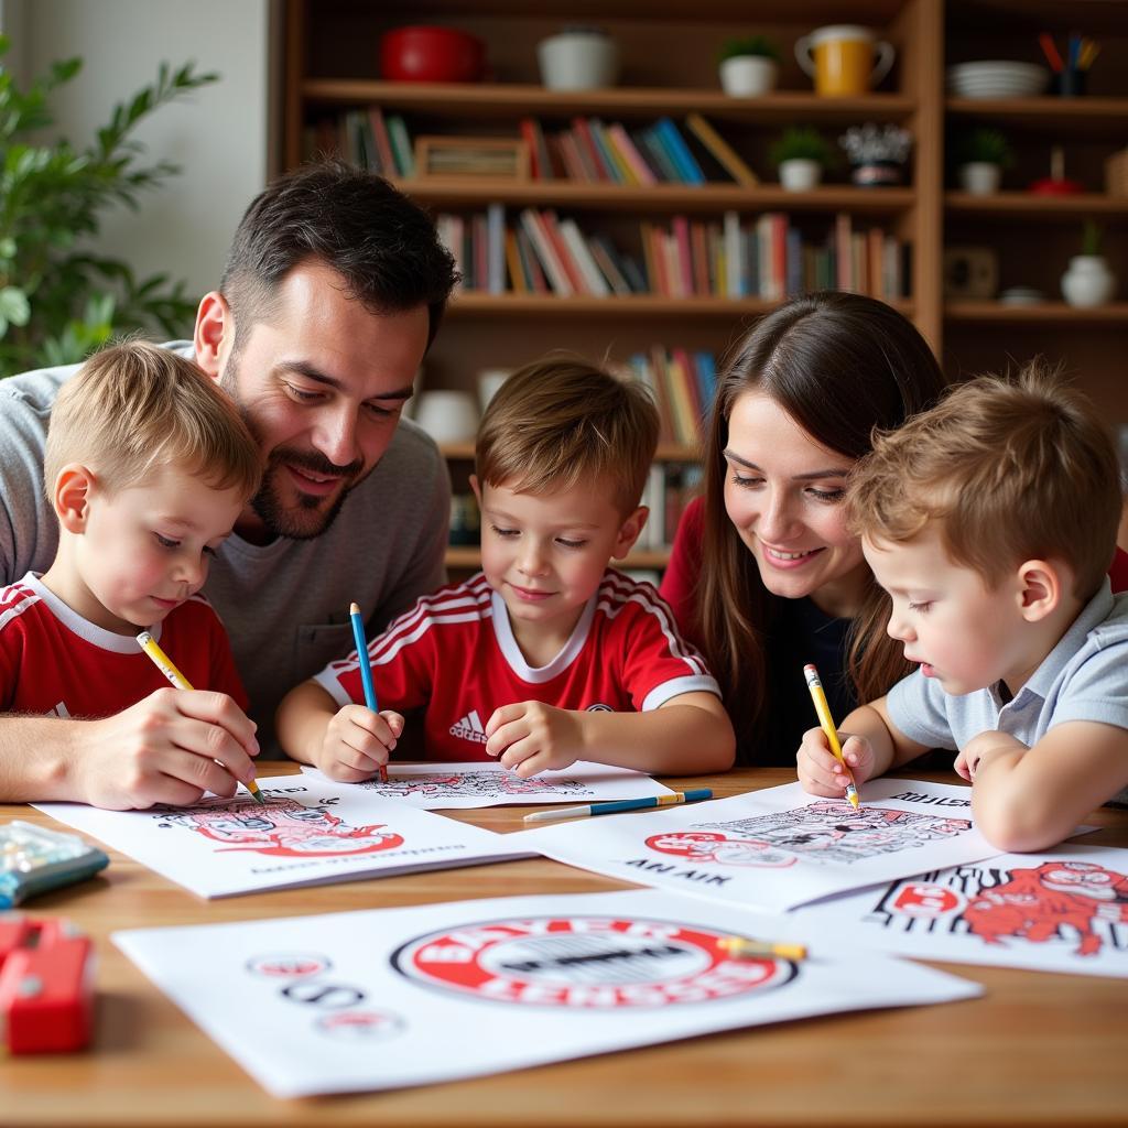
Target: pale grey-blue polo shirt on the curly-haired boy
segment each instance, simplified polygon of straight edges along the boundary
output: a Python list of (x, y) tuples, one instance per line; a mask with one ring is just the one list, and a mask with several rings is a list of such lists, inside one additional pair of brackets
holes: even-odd
[[(917, 670), (887, 704), (893, 724), (928, 748), (963, 748), (987, 731), (1030, 747), (1068, 721), (1128, 729), (1128, 593), (1113, 596), (1105, 580), (1012, 700), (1001, 682), (954, 696)], [(1116, 802), (1128, 802), (1128, 787)]]

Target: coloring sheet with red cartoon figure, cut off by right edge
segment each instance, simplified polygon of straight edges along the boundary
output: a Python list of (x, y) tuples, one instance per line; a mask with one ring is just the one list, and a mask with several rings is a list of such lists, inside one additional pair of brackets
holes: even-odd
[(1128, 978), (1128, 851), (999, 854), (812, 905), (795, 918), (920, 959)]

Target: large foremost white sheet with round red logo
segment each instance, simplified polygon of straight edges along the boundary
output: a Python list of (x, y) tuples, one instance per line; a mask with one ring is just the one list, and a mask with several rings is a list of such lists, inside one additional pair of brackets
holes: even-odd
[[(506, 897), (114, 934), (277, 1096), (424, 1085), (786, 1019), (971, 998), (931, 968), (652, 890)], [(801, 938), (793, 923), (787, 935)]]

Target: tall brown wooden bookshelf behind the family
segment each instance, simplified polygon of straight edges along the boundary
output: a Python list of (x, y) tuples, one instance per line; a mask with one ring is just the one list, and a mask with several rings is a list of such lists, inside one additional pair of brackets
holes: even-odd
[[(1090, 10), (1096, 9), (1096, 10)], [(1109, 9), (1108, 11), (1103, 9)], [(764, 0), (749, 9), (732, 0), (288, 0), (287, 68), (282, 114), (283, 162), (302, 155), (302, 130), (318, 116), (378, 105), (408, 122), (413, 135), (515, 136), (522, 117), (555, 125), (576, 116), (622, 121), (640, 127), (660, 116), (705, 116), (759, 176), (748, 187), (658, 184), (628, 187), (564, 179), (483, 184), (470, 178), (411, 178), (400, 187), (434, 212), (481, 212), (490, 203), (508, 218), (523, 208), (555, 209), (587, 230), (622, 235), (641, 220), (670, 222), (687, 215), (716, 220), (785, 212), (813, 229), (843, 212), (858, 228), (880, 226), (910, 244), (908, 297), (892, 301), (909, 317), (945, 368), (958, 376), (996, 370), (1034, 352), (1065, 361), (1117, 425), (1128, 424), (1120, 358), (1128, 345), (1128, 199), (1104, 192), (1103, 160), (1128, 140), (1128, 72), (1114, 65), (1128, 55), (1122, 5), (1090, 5), (1083, 19), (1073, 6), (1051, 0)], [(605, 27), (620, 46), (618, 85), (587, 91), (550, 91), (539, 83), (536, 44), (563, 23)], [(478, 83), (390, 82), (379, 78), (379, 36), (405, 24), (440, 24), (477, 35), (486, 44), (488, 73)], [(897, 63), (881, 88), (864, 97), (820, 98), (791, 56), (795, 39), (812, 28), (864, 23), (897, 49)], [(1084, 97), (968, 99), (950, 97), (944, 65), (972, 59), (1041, 62), (1038, 33), (1059, 41), (1074, 28), (1101, 39), (1103, 51)], [(764, 98), (731, 98), (720, 90), (715, 56), (728, 37), (764, 32), (781, 46), (779, 88)], [(858, 188), (846, 165), (809, 193), (784, 192), (766, 150), (785, 125), (809, 124), (834, 138), (864, 122), (896, 123), (914, 136), (907, 184)], [(1019, 160), (1005, 191), (990, 197), (957, 191), (945, 167), (945, 130), (977, 124), (1002, 129)], [(1049, 150), (1063, 144), (1066, 171), (1081, 180), (1076, 196), (1040, 196), (1029, 184), (1049, 171)], [(1120, 300), (1079, 310), (1060, 300), (1059, 276), (1077, 253), (1081, 223), (1098, 220), (1105, 254), (1120, 279)], [(1030, 284), (1046, 294), (1033, 307), (998, 301), (946, 300), (945, 247), (989, 246), (999, 259), (999, 288)], [(757, 317), (777, 302), (756, 297), (672, 298), (632, 293), (561, 298), (543, 293), (466, 291), (450, 306), (428, 358), (423, 387), (473, 389), (482, 369), (513, 368), (553, 349), (616, 360), (655, 341), (710, 351), (720, 363)], [(473, 451), (448, 449), (468, 473)], [(686, 460), (693, 456), (685, 450)], [(660, 459), (673, 461), (666, 450)], [(469, 561), (470, 549), (452, 549)], [(632, 562), (633, 563), (633, 562)], [(455, 566), (452, 564), (452, 566)], [(467, 566), (474, 566), (469, 564)], [(641, 566), (661, 567), (662, 563)]]

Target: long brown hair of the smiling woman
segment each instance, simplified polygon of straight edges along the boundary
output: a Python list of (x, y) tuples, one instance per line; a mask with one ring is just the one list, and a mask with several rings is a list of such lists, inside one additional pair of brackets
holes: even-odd
[[(884, 302), (825, 291), (796, 298), (756, 324), (725, 369), (705, 440), (705, 534), (697, 587), (706, 658), (747, 748), (763, 731), (765, 636), (778, 610), (724, 508), (729, 418), (748, 391), (769, 396), (816, 442), (851, 459), (874, 428), (900, 426), (933, 404), (944, 374), (915, 326)], [(884, 632), (888, 601), (870, 580), (851, 629), (848, 673), (858, 700), (909, 672)]]

